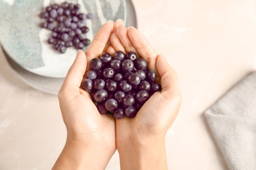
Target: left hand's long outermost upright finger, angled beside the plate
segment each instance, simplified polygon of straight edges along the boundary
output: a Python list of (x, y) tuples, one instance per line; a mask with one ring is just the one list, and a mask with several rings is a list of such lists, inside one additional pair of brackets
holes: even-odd
[(95, 38), (87, 48), (85, 54), (87, 57), (87, 67), (89, 66), (89, 61), (91, 59), (96, 58), (102, 54), (108, 40), (110, 39), (110, 35), (113, 31), (114, 22), (108, 21), (100, 29), (95, 35)]

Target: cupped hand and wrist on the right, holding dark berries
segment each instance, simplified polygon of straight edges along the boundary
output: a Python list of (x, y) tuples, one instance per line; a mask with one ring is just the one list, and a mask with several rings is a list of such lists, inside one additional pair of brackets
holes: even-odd
[(177, 75), (137, 29), (127, 29), (120, 20), (114, 25), (110, 42), (114, 50), (133, 51), (146, 59), (162, 88), (144, 103), (135, 118), (116, 120), (121, 169), (167, 169), (165, 135), (181, 105)]

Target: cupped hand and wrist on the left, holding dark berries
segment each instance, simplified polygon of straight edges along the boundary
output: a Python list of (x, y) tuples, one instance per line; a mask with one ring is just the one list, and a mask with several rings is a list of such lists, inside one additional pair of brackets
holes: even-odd
[(113, 116), (99, 114), (89, 93), (80, 88), (89, 61), (111, 46), (113, 27), (113, 22), (106, 22), (87, 51), (79, 50), (58, 93), (67, 139), (53, 169), (105, 169), (116, 151)]

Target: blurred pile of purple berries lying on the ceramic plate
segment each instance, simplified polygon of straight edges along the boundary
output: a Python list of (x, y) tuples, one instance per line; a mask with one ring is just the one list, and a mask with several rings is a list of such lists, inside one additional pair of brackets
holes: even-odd
[(85, 20), (92, 19), (93, 15), (79, 12), (80, 8), (74, 3), (54, 3), (41, 12), (44, 22), (40, 26), (52, 31), (47, 42), (52, 44), (54, 50), (65, 53), (68, 47), (74, 46), (79, 50), (91, 43), (85, 35), (89, 31)]

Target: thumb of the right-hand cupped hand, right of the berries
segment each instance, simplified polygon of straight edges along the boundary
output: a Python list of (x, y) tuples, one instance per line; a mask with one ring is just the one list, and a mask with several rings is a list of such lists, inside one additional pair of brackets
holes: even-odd
[(165, 97), (180, 95), (177, 74), (162, 55), (156, 59), (156, 69), (160, 76), (161, 88), (166, 95)]

